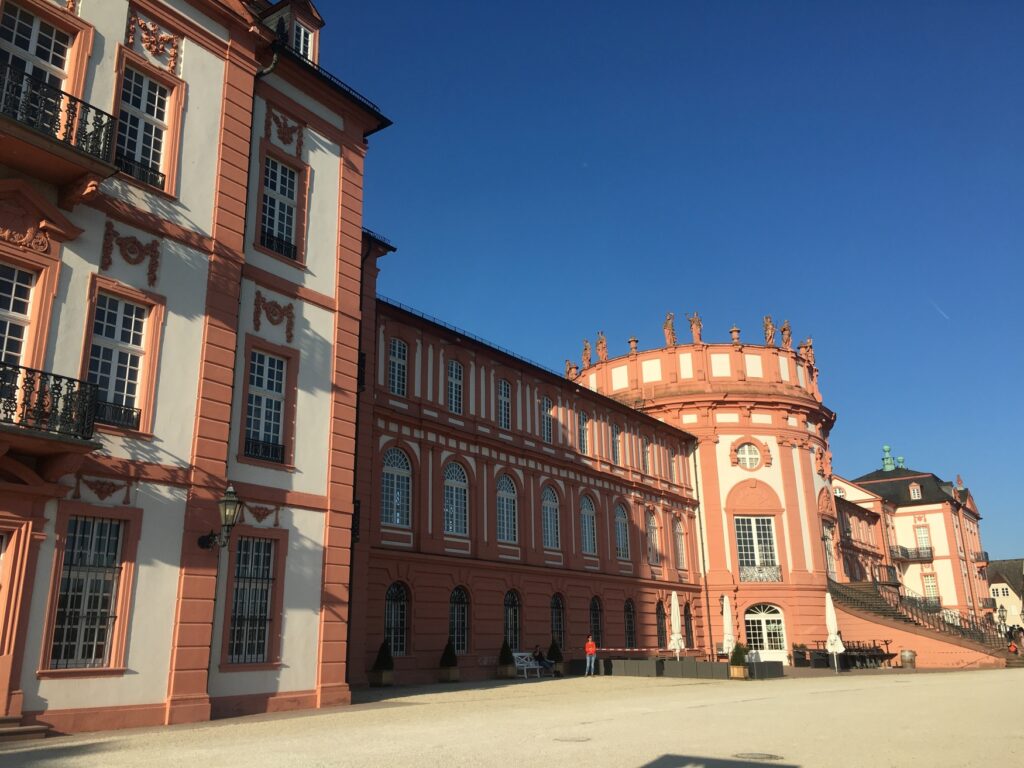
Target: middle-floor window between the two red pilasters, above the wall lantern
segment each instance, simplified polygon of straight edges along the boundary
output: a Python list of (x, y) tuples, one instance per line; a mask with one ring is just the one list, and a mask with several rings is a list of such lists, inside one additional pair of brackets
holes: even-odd
[(285, 381), (288, 361), (258, 349), (249, 357), (245, 455), (285, 462)]

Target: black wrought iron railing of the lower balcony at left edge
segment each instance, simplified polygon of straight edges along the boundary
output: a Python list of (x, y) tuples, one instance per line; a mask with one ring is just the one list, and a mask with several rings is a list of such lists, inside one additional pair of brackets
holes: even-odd
[(88, 440), (96, 398), (95, 384), (0, 362), (2, 423)]

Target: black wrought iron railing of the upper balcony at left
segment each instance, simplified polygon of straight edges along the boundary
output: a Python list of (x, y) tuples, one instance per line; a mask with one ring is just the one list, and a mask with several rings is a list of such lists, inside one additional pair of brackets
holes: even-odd
[(111, 162), (114, 116), (0, 63), (0, 115), (104, 163)]

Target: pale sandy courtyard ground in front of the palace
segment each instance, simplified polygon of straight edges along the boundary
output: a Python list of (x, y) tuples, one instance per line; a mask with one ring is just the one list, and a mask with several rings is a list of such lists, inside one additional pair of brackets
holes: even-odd
[(1024, 670), (425, 686), (11, 745), (0, 766), (1013, 766), (1024, 765), (1022, 696)]

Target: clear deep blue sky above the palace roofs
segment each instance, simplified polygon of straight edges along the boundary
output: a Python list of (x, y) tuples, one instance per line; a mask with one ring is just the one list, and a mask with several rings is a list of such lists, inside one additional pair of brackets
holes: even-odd
[(321, 2), (380, 293), (560, 371), (812, 335), (836, 470), (957, 473), (1024, 555), (1024, 3)]

